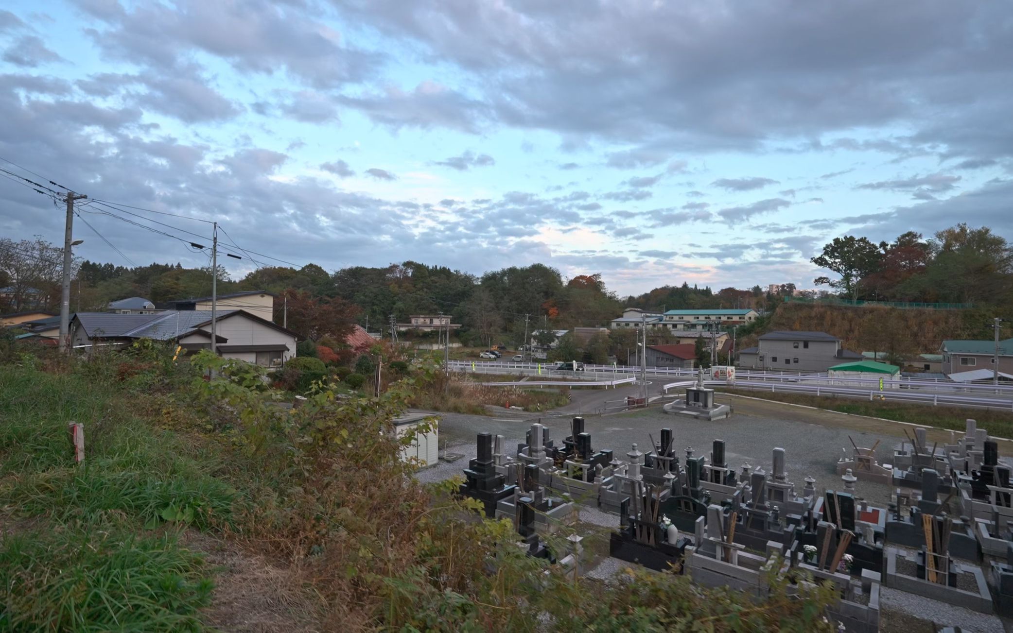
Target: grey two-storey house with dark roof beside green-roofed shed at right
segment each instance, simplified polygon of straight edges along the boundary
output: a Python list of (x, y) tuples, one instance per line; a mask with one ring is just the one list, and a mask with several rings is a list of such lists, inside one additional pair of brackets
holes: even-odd
[(776, 330), (760, 336), (759, 342), (738, 352), (739, 368), (826, 372), (842, 361), (864, 359), (841, 347), (841, 339), (827, 332)]

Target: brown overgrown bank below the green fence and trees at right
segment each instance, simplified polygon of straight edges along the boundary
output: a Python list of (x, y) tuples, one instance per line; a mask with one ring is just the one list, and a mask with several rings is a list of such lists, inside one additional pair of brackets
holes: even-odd
[(925, 310), (781, 304), (766, 325), (743, 337), (741, 346), (757, 344), (772, 330), (816, 330), (839, 336), (847, 349), (932, 353), (947, 338), (991, 338), (988, 316), (979, 310)]

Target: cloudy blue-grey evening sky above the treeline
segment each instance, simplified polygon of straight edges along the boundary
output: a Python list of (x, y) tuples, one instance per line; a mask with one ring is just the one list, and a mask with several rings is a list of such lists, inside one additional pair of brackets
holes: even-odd
[[(0, 5), (0, 167), (89, 196), (81, 257), (207, 265), (212, 220), (234, 279), (812, 288), (843, 235), (1013, 240), (1011, 112), (1006, 2)], [(0, 175), (0, 237), (61, 242), (65, 209)]]

